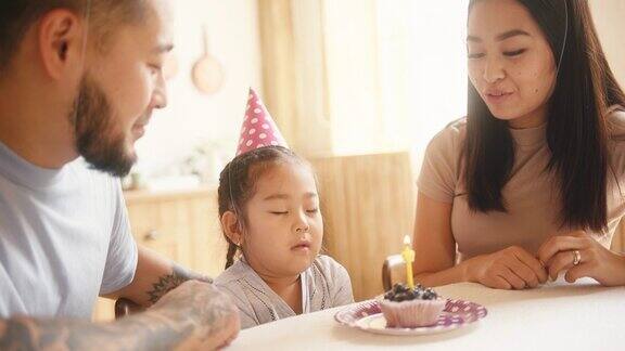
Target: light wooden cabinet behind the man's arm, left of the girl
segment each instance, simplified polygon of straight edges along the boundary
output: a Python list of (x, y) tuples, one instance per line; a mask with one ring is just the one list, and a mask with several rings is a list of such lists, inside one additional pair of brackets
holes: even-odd
[[(151, 248), (193, 271), (217, 276), (226, 264), (217, 210), (217, 190), (125, 193), (132, 235)], [(113, 301), (100, 299), (93, 317), (112, 320)]]

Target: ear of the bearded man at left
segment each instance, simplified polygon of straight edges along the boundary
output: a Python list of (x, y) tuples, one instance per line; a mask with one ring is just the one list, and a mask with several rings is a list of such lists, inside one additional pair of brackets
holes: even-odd
[(60, 79), (71, 69), (81, 69), (87, 34), (85, 21), (69, 10), (52, 10), (41, 17), (37, 30), (38, 48), (50, 77)]

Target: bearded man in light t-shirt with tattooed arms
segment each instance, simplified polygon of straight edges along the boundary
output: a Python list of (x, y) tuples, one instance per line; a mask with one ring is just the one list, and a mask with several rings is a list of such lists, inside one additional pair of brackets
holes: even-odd
[[(0, 350), (215, 349), (238, 311), (132, 239), (118, 177), (167, 104), (167, 0), (0, 0)], [(98, 296), (148, 308), (89, 321)]]

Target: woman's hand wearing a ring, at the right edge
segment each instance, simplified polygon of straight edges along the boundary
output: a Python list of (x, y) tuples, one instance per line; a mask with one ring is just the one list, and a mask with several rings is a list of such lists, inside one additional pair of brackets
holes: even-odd
[(625, 285), (625, 257), (582, 231), (551, 237), (538, 250), (538, 258), (553, 280), (566, 271), (564, 278), (569, 283), (587, 276), (604, 286)]

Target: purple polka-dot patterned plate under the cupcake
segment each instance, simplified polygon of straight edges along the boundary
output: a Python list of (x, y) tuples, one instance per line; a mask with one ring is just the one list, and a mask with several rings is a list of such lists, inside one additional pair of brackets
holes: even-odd
[(447, 299), (443, 312), (431, 326), (390, 328), (386, 327), (380, 303), (373, 299), (342, 309), (334, 314), (334, 320), (340, 324), (375, 334), (429, 335), (460, 328), (482, 320), (488, 313), (485, 307), (462, 299)]

